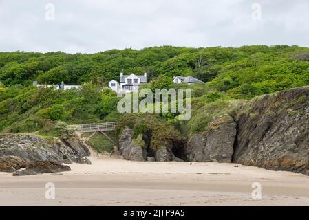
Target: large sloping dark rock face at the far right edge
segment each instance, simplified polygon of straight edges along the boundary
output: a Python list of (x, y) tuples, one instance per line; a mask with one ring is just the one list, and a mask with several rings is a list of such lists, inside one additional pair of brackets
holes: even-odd
[(233, 162), (309, 175), (309, 88), (262, 96), (243, 109)]

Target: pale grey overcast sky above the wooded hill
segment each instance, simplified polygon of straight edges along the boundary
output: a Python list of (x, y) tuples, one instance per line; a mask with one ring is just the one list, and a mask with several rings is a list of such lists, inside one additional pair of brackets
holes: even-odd
[(277, 44), (309, 47), (308, 0), (0, 0), (0, 51)]

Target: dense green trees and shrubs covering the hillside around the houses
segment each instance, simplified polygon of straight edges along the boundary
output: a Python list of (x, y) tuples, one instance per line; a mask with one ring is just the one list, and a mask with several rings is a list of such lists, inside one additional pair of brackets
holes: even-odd
[[(107, 82), (125, 74), (148, 73), (143, 88), (193, 89), (193, 115), (126, 114), (116, 110), (118, 98)], [(174, 85), (172, 77), (194, 76), (206, 85)], [(81, 90), (54, 91), (39, 83), (82, 85)], [(119, 121), (134, 135), (156, 131), (158, 148), (184, 134), (206, 129), (213, 117), (233, 114), (243, 100), (292, 87), (309, 85), (309, 48), (246, 46), (239, 48), (149, 47), (109, 50), (97, 54), (0, 53), (0, 131), (61, 136), (66, 124)], [(102, 89), (104, 88), (104, 89)], [(94, 141), (94, 145), (95, 145)]]

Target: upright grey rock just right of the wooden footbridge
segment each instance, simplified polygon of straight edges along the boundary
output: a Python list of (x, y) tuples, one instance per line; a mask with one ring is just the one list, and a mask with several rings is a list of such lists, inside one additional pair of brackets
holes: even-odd
[(142, 146), (143, 140), (140, 137), (139, 140), (133, 138), (132, 129), (125, 128), (122, 131), (122, 135), (119, 140), (119, 151), (122, 157), (131, 161), (145, 161), (144, 146)]

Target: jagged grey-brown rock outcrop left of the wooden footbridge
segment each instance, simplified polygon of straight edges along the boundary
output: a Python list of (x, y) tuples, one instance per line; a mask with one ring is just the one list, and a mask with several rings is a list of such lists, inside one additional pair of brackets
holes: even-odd
[[(0, 172), (12, 173), (36, 162), (92, 164), (89, 159), (84, 158), (87, 156), (87, 146), (77, 137), (58, 141), (35, 135), (0, 135)], [(32, 170), (28, 170), (23, 175), (33, 174)]]

